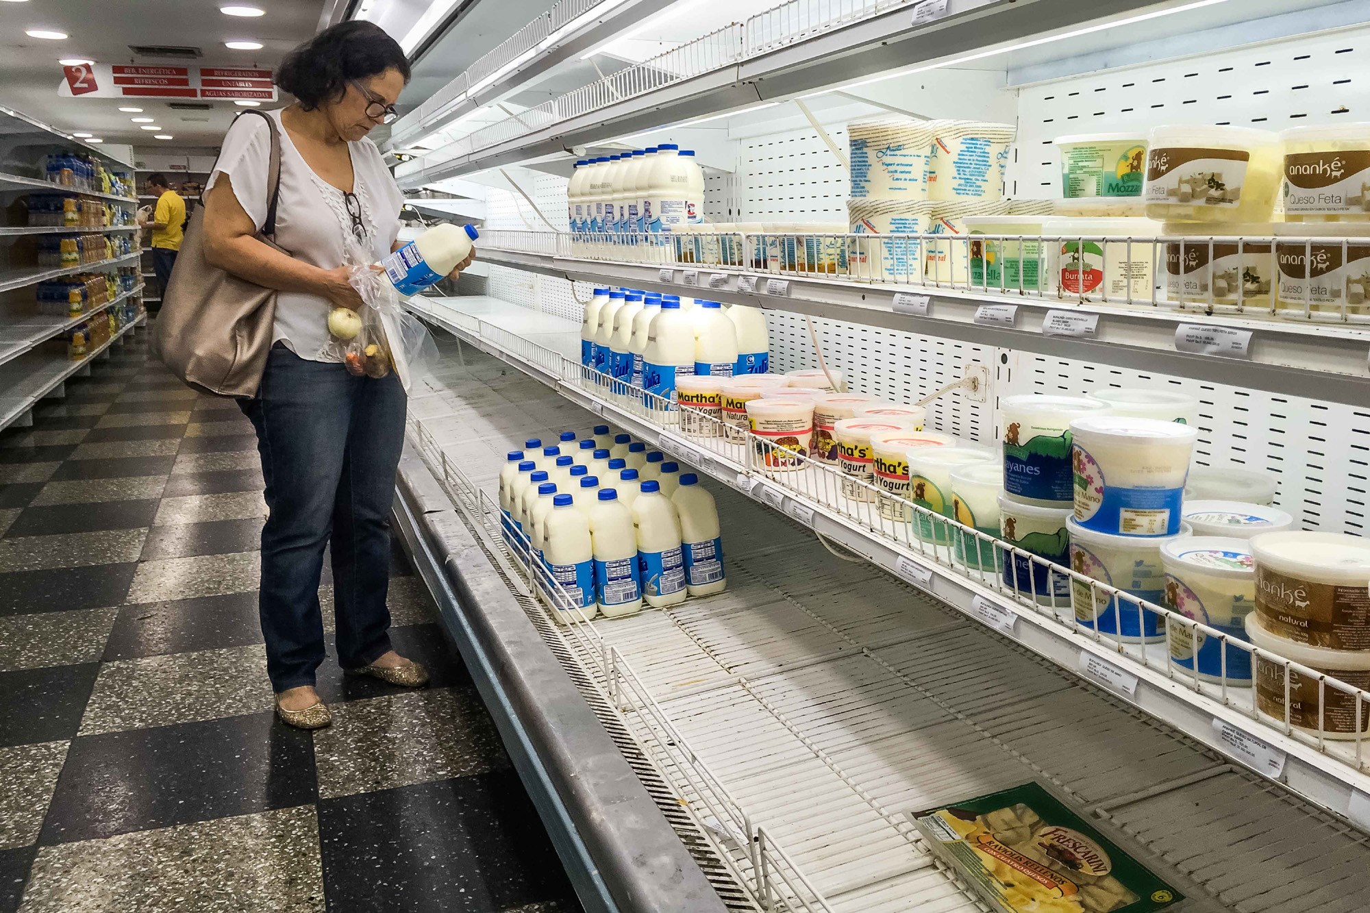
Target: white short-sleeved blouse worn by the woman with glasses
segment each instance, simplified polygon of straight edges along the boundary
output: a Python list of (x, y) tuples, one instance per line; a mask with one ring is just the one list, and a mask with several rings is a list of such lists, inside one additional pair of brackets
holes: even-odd
[[(314, 173), (295, 148), (290, 134), (281, 125), (281, 112), (269, 111), (281, 132), (281, 196), (275, 214), (275, 243), (306, 263), (323, 269), (342, 265), (345, 243), (355, 237), (355, 219), (348, 214), (347, 197)], [(381, 160), (381, 151), (371, 140), (348, 143), (352, 155), (353, 185), (360, 211), (363, 248), (373, 260), (390, 252), (400, 232), (400, 207), (404, 196)], [(255, 114), (238, 115), (223, 137), (219, 162), (206, 185), (206, 193), (219, 174), (233, 181), (238, 204), (252, 218), (258, 230), (266, 223), (267, 170), (271, 158), (271, 132)], [(275, 297), (275, 332), (273, 343), (284, 341), (311, 362), (340, 361), (330, 356), (327, 315), (329, 300), (307, 292), (281, 292)]]

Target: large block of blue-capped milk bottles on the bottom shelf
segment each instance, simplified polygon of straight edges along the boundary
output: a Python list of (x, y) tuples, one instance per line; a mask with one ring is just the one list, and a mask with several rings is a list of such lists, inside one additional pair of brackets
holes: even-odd
[(511, 554), (532, 565), (538, 596), (562, 624), (630, 616), (644, 602), (673, 606), (727, 585), (714, 496), (695, 473), (608, 425), (510, 451), (500, 511)]

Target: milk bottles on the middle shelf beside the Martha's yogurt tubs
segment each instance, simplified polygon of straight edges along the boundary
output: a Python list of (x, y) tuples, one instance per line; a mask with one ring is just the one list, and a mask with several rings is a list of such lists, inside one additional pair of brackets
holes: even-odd
[(764, 374), (770, 333), (759, 307), (600, 287), (581, 321), (581, 365), (625, 403), (664, 410), (681, 374)]

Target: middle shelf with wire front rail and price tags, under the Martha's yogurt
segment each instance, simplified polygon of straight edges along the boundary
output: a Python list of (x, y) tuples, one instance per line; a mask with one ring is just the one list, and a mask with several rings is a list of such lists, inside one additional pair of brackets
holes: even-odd
[[(1058, 666), (1110, 681), (1119, 699), (1174, 725), (1237, 764), (1284, 783), (1318, 806), (1370, 828), (1370, 739), (1332, 742), (1277, 728), (1256, 718), (1251, 688), (1215, 685), (1178, 674), (1164, 643), (1125, 644), (1086, 631), (1049, 609), (1023, 605), (995, 572), (958, 569), (934, 548), (899, 541), (862, 521), (870, 504), (847, 503), (825, 491), (814, 470), (767, 474), (752, 469), (741, 444), (685, 439), (647, 421), (641, 410), (582, 385), (580, 325), (489, 297), (414, 297), (410, 308), (514, 367), (560, 396), (618, 424), (629, 433), (718, 478), (775, 511), (796, 518), (856, 557), (911, 583), (964, 616)], [(1026, 602), (1026, 600), (1025, 600)], [(1263, 769), (1262, 769), (1263, 768)]]

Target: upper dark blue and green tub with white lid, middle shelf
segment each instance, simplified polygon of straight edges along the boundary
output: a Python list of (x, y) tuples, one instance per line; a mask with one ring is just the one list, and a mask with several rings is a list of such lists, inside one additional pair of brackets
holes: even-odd
[(1070, 422), (1106, 415), (1108, 407), (1082, 396), (1028, 393), (1001, 400), (1004, 414), (1004, 491), (1043, 507), (1074, 499)]

